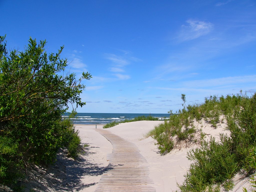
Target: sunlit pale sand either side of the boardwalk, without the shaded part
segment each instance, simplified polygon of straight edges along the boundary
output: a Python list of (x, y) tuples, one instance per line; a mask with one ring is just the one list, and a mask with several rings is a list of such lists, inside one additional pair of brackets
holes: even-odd
[[(154, 181), (154, 187), (157, 192), (175, 191), (178, 189), (176, 183), (182, 183), (184, 181), (184, 174), (191, 163), (186, 158), (187, 151), (192, 147), (198, 147), (198, 145), (193, 145), (187, 148), (176, 148), (166, 155), (159, 154), (157, 146), (155, 145), (155, 140), (152, 137), (145, 138), (145, 134), (159, 123), (163, 122), (137, 121), (121, 123), (107, 130), (134, 143), (139, 148), (141, 154), (146, 158), (149, 164), (150, 178)], [(197, 124), (197, 127), (200, 129), (201, 124)], [(94, 154), (93, 161), (105, 166), (106, 154), (111, 153), (110, 142), (102, 138), (102, 136), (96, 132), (95, 126), (77, 125), (76, 128), (80, 131), (84, 143), (89, 143), (91, 147), (99, 147), (96, 148), (98, 155)], [(213, 129), (208, 125), (205, 126), (203, 130), (207, 132), (208, 138), (211, 135), (218, 138), (219, 133), (228, 133), (224, 128), (225, 124), (220, 124), (217, 129)], [(102, 129), (102, 126), (97, 125), (97, 129)], [(91, 159), (90, 156), (88, 156), (88, 158)], [(88, 176), (88, 178), (85, 177), (81, 180), (87, 185), (95, 183), (95, 185), (91, 185), (85, 191), (94, 191), (99, 179), (100, 176)], [(248, 188), (249, 184), (247, 181), (248, 179), (241, 180), (241, 176), (237, 175), (234, 180), (236, 186), (233, 191), (242, 191), (242, 186)]]

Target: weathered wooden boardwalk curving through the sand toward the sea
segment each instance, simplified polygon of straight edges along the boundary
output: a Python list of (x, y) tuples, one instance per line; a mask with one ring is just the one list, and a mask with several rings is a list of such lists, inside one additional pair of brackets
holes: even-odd
[(153, 181), (148, 177), (148, 164), (133, 143), (110, 131), (96, 129), (113, 145), (107, 155), (109, 165), (102, 175), (95, 192), (155, 192)]

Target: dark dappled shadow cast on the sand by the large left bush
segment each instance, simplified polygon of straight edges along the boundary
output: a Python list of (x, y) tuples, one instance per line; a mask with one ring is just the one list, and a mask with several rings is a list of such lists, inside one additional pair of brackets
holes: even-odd
[(82, 183), (81, 178), (86, 176), (99, 176), (117, 165), (96, 164), (87, 160), (87, 156), (95, 154), (95, 147), (85, 147), (84, 154), (79, 159), (67, 158), (65, 151), (61, 150), (57, 155), (54, 165), (47, 168), (33, 167), (29, 170), (29, 177), (25, 191), (36, 189), (36, 191), (80, 191), (97, 183)]

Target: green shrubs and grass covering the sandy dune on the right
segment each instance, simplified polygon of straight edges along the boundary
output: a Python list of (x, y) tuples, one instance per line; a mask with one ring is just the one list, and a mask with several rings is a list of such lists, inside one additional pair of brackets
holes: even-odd
[(205, 120), (214, 129), (223, 121), (222, 116), (231, 134), (220, 134), (218, 142), (214, 137), (205, 141), (201, 131), (200, 147), (187, 153), (192, 164), (184, 183), (177, 184), (179, 191), (220, 191), (221, 187), (229, 191), (234, 187), (232, 178), (238, 172), (252, 175), (252, 186), (255, 186), (256, 94), (251, 98), (242, 92), (226, 98), (213, 96), (201, 105), (186, 105), (185, 95), (182, 100), (183, 109), (147, 134), (156, 140), (160, 153), (170, 152), (174, 142), (193, 139), (194, 120)]

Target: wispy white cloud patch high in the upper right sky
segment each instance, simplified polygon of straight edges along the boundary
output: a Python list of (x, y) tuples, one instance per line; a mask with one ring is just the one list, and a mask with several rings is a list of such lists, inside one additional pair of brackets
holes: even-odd
[(199, 38), (208, 34), (213, 29), (213, 24), (210, 22), (189, 19), (186, 21), (188, 25), (182, 25), (179, 32), (178, 39), (180, 41), (187, 41)]

